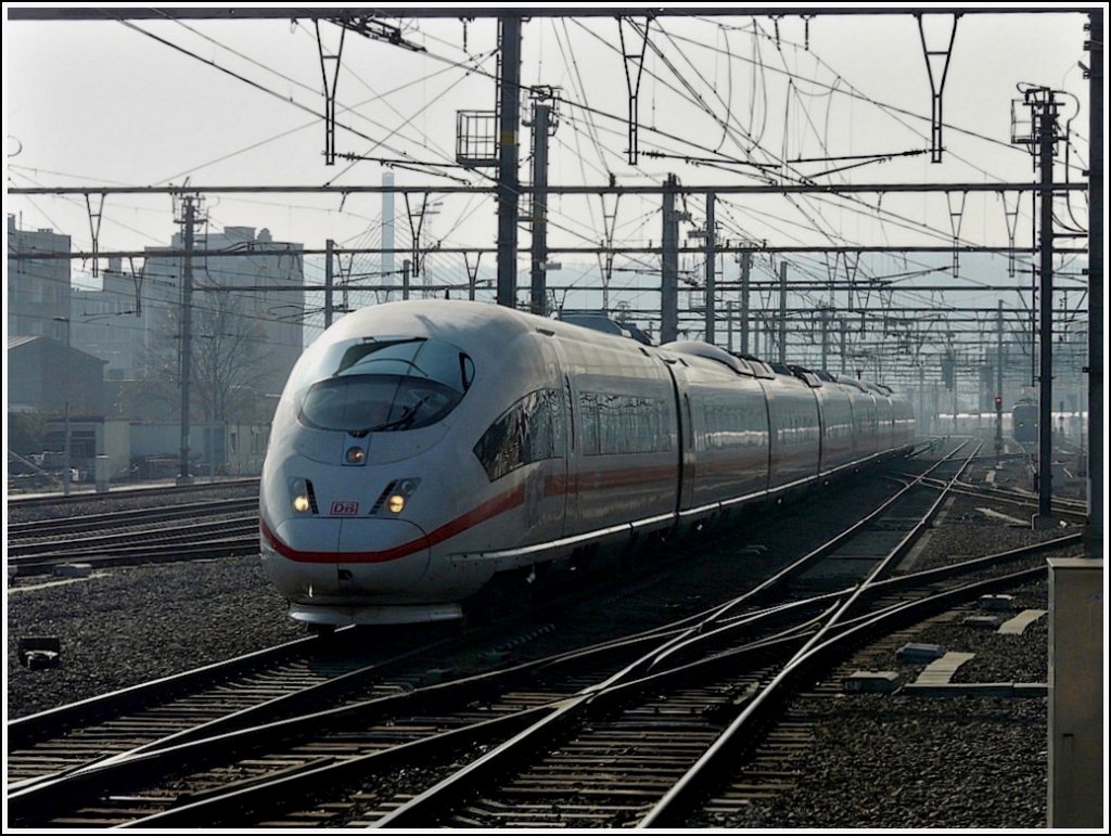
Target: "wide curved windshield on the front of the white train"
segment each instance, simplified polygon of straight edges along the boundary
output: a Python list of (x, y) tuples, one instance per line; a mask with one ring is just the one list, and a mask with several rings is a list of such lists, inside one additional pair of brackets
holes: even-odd
[(304, 372), (298, 417), (318, 430), (378, 433), (441, 421), (462, 400), (474, 364), (439, 340), (346, 341)]

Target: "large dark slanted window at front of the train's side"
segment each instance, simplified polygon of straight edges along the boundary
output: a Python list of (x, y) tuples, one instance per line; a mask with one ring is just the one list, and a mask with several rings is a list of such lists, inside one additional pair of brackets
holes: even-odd
[(563, 456), (567, 433), (558, 389), (531, 392), (503, 412), (474, 445), (474, 455), (494, 482), (518, 467)]

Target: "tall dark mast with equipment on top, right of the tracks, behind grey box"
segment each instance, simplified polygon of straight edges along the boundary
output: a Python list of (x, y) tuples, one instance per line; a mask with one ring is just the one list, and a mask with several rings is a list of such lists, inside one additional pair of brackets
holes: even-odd
[(1039, 238), (1039, 401), (1038, 401), (1038, 514), (1035, 530), (1050, 528), (1053, 520), (1053, 145), (1057, 133), (1057, 101), (1052, 90), (1027, 93), (1033, 107), (1038, 132), (1038, 165), (1041, 172)]

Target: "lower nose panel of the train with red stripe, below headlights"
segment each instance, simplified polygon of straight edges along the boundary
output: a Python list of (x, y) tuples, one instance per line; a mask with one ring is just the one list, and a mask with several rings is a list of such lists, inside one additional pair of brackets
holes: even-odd
[(424, 532), (403, 520), (287, 520), (263, 543), (271, 581), (301, 603), (404, 596), (429, 564)]

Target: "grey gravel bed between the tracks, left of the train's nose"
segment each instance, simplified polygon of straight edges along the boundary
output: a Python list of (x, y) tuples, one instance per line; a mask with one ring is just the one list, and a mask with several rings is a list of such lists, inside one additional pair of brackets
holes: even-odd
[[(306, 635), (257, 555), (31, 578), (7, 607), (9, 719)], [(57, 636), (61, 664), (20, 665), (27, 636)]]

